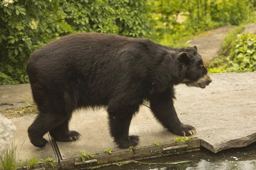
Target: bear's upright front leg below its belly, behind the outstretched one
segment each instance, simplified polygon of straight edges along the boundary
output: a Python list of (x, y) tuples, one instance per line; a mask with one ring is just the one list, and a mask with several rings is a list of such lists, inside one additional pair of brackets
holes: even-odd
[(121, 149), (136, 146), (139, 142), (139, 136), (129, 136), (131, 119), (138, 108), (138, 106), (108, 108), (110, 132)]

